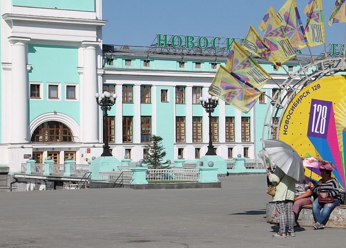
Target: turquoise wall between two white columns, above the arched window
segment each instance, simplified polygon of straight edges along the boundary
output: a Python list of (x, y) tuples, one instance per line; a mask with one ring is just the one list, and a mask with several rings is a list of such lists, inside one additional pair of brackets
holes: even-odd
[[(29, 123), (55, 110), (70, 116), (79, 124), (79, 101), (65, 101), (65, 83), (79, 83), (78, 47), (29, 44), (28, 49), (28, 63), (31, 64), (28, 80), (43, 83), (43, 100), (29, 100)], [(47, 100), (47, 83), (60, 83), (61, 100)]]

